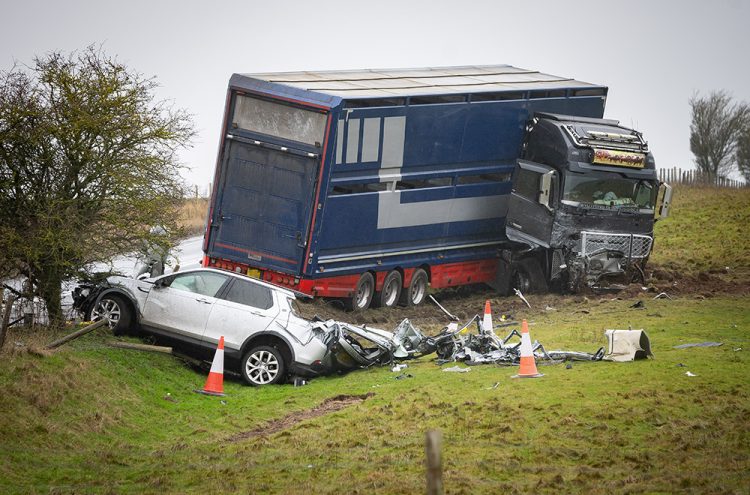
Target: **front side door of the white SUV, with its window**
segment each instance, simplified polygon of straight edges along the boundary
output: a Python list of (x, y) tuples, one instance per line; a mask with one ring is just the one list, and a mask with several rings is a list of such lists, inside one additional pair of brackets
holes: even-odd
[(146, 296), (141, 324), (160, 333), (200, 342), (216, 294), (229, 276), (206, 271), (160, 278)]

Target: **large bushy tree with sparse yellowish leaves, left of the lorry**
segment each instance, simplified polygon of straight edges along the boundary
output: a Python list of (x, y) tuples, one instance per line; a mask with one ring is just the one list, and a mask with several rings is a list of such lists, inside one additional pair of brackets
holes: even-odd
[(184, 111), (156, 82), (95, 47), (0, 72), (0, 272), (17, 273), (62, 318), (61, 283), (176, 230)]

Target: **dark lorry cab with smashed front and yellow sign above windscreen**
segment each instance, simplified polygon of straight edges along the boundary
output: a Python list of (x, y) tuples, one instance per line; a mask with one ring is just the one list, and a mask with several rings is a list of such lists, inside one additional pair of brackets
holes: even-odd
[(643, 282), (660, 197), (666, 216), (671, 188), (657, 179), (638, 131), (616, 120), (535, 114), (508, 203), (506, 235), (516, 245), (506, 257), (508, 283), (576, 292)]

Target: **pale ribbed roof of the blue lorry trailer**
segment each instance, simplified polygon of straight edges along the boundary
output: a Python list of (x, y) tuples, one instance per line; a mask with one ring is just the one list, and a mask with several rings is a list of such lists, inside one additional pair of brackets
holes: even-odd
[(252, 86), (264, 82), (343, 99), (602, 87), (511, 65), (268, 72), (232, 78), (244, 86), (242, 80)]

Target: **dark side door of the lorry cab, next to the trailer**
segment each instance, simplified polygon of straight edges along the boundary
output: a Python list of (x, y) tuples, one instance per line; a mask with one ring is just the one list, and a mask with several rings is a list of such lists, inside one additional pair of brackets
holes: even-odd
[(518, 160), (505, 223), (510, 240), (550, 246), (557, 183), (557, 172), (552, 167)]

